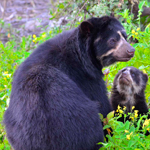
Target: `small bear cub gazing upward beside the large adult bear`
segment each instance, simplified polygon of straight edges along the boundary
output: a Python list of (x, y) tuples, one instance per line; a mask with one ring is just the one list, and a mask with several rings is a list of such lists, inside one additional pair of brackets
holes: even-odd
[[(126, 107), (126, 114), (138, 110), (139, 115), (148, 112), (145, 100), (145, 88), (148, 81), (147, 74), (135, 67), (125, 67), (118, 72), (114, 79), (111, 104), (116, 111), (118, 105)], [(132, 106), (135, 108), (132, 110)], [(126, 119), (129, 119), (128, 117)], [(118, 119), (124, 122), (124, 116)]]

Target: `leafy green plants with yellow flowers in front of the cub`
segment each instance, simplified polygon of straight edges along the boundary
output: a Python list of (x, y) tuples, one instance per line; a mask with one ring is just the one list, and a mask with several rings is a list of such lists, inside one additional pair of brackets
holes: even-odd
[(128, 113), (128, 115), (126, 115), (126, 117), (129, 117), (131, 121), (122, 123), (117, 121), (117, 119), (122, 116), (125, 110), (118, 108), (118, 111), (120, 111), (120, 114), (114, 118), (108, 119), (107, 125), (104, 126), (104, 129), (112, 128), (113, 136), (109, 134), (106, 135), (108, 142), (98, 143), (104, 146), (100, 149), (149, 150), (150, 135), (145, 135), (145, 133), (150, 130), (150, 119), (147, 119), (147, 115), (138, 117), (137, 111), (134, 110), (133, 113)]

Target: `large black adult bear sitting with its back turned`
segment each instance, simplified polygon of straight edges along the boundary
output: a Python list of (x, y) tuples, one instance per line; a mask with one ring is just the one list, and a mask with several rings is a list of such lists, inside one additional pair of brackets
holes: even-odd
[(112, 110), (102, 67), (128, 61), (134, 48), (108, 16), (83, 21), (39, 46), (17, 69), (4, 115), (15, 150), (97, 150), (98, 113)]

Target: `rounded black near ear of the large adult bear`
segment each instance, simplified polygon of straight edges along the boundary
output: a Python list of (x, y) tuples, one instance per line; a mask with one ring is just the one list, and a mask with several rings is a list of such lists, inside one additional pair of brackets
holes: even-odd
[(80, 30), (83, 34), (88, 35), (93, 30), (93, 25), (88, 21), (83, 21), (80, 25)]

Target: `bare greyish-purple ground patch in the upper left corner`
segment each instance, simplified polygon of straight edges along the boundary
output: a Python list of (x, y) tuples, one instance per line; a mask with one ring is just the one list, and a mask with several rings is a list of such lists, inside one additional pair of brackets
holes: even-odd
[[(0, 40), (8, 41), (8, 34), (27, 36), (39, 34), (51, 26), (50, 9), (53, 0), (0, 0)], [(9, 25), (10, 24), (10, 25)]]

